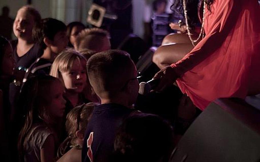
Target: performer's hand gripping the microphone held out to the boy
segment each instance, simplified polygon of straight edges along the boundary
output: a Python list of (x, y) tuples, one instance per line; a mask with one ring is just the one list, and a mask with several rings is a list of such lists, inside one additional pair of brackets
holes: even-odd
[(175, 69), (171, 66), (166, 66), (155, 74), (153, 79), (160, 79), (158, 86), (154, 89), (156, 92), (162, 91), (164, 88), (172, 85), (178, 78)]

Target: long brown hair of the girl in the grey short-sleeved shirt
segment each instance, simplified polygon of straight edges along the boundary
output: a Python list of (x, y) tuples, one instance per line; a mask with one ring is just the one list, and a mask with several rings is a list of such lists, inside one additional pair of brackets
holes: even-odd
[[(24, 159), (25, 138), (34, 123), (51, 122), (49, 111), (45, 106), (49, 104), (50, 85), (59, 79), (52, 76), (36, 76), (25, 82), (19, 98), (18, 119), (23, 123), (23, 127), (18, 137), (18, 151), (21, 161)], [(48, 120), (48, 121), (47, 121)], [(20, 127), (20, 125), (18, 126)]]

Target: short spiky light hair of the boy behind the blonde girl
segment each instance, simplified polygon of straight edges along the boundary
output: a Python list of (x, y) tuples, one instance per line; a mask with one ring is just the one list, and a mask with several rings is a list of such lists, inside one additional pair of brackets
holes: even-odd
[(98, 51), (105, 43), (104, 39), (109, 40), (109, 33), (99, 28), (84, 29), (79, 33), (75, 42), (75, 49), (88, 48)]

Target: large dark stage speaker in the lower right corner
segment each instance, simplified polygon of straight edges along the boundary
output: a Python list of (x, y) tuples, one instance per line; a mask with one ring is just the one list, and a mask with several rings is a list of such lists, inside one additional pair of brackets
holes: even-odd
[(260, 161), (260, 111), (237, 98), (212, 102), (185, 132), (170, 161)]

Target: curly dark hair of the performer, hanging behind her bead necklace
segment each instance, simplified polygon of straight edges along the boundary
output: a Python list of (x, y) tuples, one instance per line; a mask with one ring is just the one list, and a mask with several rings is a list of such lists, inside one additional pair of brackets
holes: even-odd
[[(202, 0), (206, 2), (207, 9), (211, 11), (211, 5), (214, 3), (215, 0)], [(186, 0), (187, 3), (187, 18), (191, 29), (193, 29), (196, 24), (199, 22), (198, 18), (198, 4), (199, 0)], [(171, 10), (175, 11), (179, 14), (183, 14), (183, 0), (175, 0), (174, 3), (171, 5)]]

